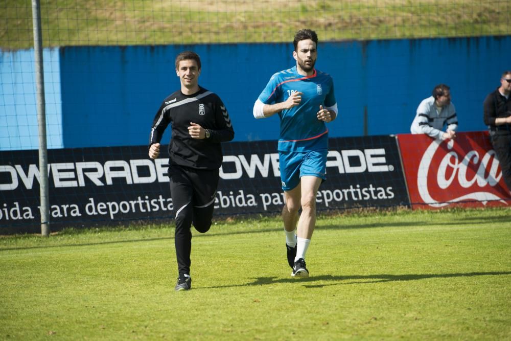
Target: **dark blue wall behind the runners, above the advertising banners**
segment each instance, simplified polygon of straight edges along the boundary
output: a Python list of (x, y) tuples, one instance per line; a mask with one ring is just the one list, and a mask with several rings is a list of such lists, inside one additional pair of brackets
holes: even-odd
[[(180, 86), (174, 58), (184, 50), (201, 56), (199, 83), (225, 102), (235, 141), (277, 138), (278, 118), (255, 120), (252, 106), (273, 73), (295, 64), (292, 43), (65, 47), (63, 146), (146, 144), (159, 104)], [(484, 130), (482, 101), (511, 69), (509, 56), (511, 36), (320, 42), (316, 68), (334, 77), (340, 112), (330, 136), (364, 134), (364, 110), (368, 134), (409, 132), (438, 83), (451, 86), (460, 131)]]

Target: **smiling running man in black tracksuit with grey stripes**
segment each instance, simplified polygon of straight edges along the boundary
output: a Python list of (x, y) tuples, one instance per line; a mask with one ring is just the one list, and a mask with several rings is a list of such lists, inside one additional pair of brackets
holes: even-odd
[(176, 291), (192, 287), (190, 254), (191, 227), (200, 233), (211, 227), (219, 168), (221, 142), (234, 139), (234, 130), (222, 100), (198, 84), (199, 56), (185, 51), (176, 57), (181, 89), (161, 103), (154, 117), (149, 140), (149, 157), (160, 153), (161, 137), (170, 124), (170, 192), (176, 219), (175, 246), (179, 277)]

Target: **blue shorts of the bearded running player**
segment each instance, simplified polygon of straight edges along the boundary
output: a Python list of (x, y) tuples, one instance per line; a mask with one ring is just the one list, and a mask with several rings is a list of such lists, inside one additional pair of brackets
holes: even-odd
[(312, 175), (326, 180), (327, 149), (308, 152), (279, 151), (282, 189), (290, 191), (300, 183), (300, 178)]

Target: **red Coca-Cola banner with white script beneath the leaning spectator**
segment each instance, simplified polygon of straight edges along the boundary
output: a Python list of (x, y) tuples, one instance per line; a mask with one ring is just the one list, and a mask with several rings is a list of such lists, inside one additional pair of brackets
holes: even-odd
[(399, 134), (398, 142), (413, 209), (511, 204), (486, 131), (460, 132), (445, 141)]

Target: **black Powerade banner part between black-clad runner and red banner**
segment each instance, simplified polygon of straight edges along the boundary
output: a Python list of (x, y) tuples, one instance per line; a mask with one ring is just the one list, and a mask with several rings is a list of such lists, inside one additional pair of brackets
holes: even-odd
[[(409, 205), (395, 137), (329, 140), (327, 180), (316, 196), (318, 210)], [(224, 145), (217, 212), (281, 212), (277, 143)]]

